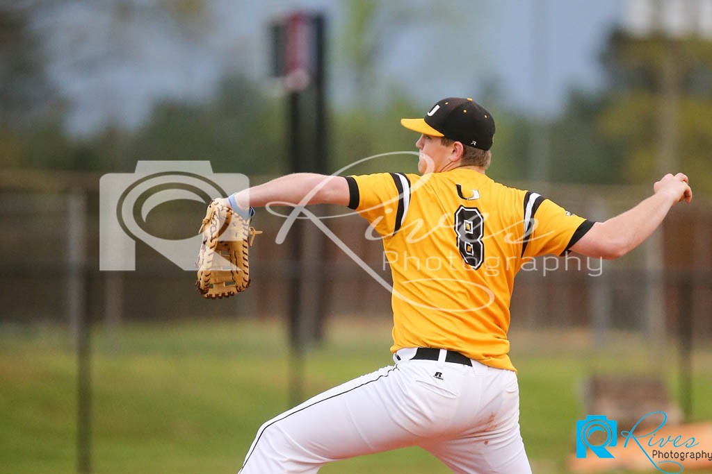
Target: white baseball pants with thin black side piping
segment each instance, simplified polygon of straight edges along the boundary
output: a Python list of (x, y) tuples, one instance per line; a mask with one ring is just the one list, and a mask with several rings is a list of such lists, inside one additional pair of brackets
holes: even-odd
[(455, 473), (530, 474), (515, 372), (412, 360), (334, 387), (267, 421), (240, 474), (316, 473), (335, 460), (420, 446)]

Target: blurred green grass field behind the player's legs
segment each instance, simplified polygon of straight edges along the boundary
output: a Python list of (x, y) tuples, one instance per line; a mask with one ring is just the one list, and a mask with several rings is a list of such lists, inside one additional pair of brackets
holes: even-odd
[[(289, 407), (283, 325), (201, 321), (125, 325), (93, 336), (93, 472), (236, 473), (263, 421)], [(535, 474), (566, 473), (580, 384), (592, 370), (650, 370), (644, 341), (594, 351), (585, 335), (513, 335), (522, 433)], [(330, 325), (305, 361), (305, 397), (389, 365), (389, 325)], [(674, 389), (674, 352), (659, 370)], [(0, 473), (76, 472), (76, 360), (62, 328), (0, 326)], [(712, 419), (710, 352), (695, 356), (693, 418)], [(674, 392), (674, 390), (673, 390)], [(706, 447), (712, 450), (712, 446)], [(328, 465), (322, 473), (447, 473), (410, 448)], [(650, 472), (657, 472), (652, 469)], [(696, 471), (701, 473), (701, 471)]]

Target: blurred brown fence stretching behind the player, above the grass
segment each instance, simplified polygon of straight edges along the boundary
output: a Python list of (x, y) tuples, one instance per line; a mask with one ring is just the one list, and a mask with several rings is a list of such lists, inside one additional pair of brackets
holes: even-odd
[[(253, 247), (250, 290), (232, 300), (204, 301), (193, 289), (192, 271), (179, 269), (144, 242), (135, 245), (135, 271), (99, 271), (98, 176), (16, 173), (5, 176), (2, 184), (3, 323), (71, 325), (83, 274), (88, 276), (94, 321), (109, 328), (122, 320), (280, 318), (288, 311), (288, 283), (295, 272), (318, 283), (330, 315), (390, 317), (387, 290), (333, 242), (312, 252), (312, 260), (297, 262), (287, 244), (275, 242), (284, 218), (270, 212), (261, 210), (256, 217), (265, 233)], [(579, 215), (604, 220), (632, 207), (649, 191), (546, 185), (544, 193)], [(513, 328), (588, 328), (600, 340), (610, 329), (638, 330), (660, 340), (676, 321), (681, 291), (689, 288), (693, 333), (709, 335), (712, 211), (700, 201), (676, 206), (662, 230), (622, 259), (570, 254), (525, 264), (515, 281)], [(145, 226), (165, 239), (184, 238), (197, 233), (203, 213), (204, 205), (194, 201), (166, 203), (152, 210)], [(322, 222), (379, 276), (389, 279), (380, 242), (364, 238), (364, 220), (351, 215)], [(303, 227), (305, 246), (322, 233), (313, 225)]]

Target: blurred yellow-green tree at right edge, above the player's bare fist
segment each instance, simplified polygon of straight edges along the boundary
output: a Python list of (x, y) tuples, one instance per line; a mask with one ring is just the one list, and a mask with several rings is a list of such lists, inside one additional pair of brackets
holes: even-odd
[(625, 151), (624, 180), (684, 171), (696, 189), (712, 190), (712, 42), (616, 30), (603, 64), (612, 90), (598, 128)]

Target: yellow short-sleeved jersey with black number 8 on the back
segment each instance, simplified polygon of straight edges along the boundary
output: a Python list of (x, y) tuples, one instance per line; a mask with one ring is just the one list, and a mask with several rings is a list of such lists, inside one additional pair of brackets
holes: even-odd
[(515, 370), (507, 339), (515, 274), (531, 257), (565, 254), (593, 222), (469, 168), (346, 179), (349, 207), (382, 237), (391, 267), (391, 352), (456, 350)]

